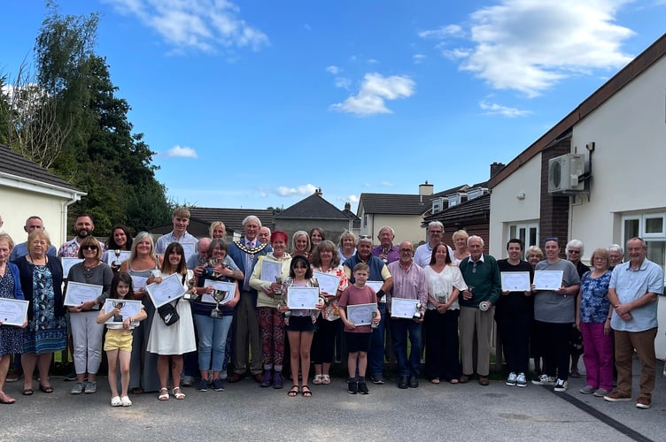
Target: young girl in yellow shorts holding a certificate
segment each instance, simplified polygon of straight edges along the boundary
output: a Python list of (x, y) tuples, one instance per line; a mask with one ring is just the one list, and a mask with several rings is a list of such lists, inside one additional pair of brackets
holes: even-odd
[[(109, 299), (114, 300), (134, 300), (134, 290), (132, 288), (132, 278), (125, 272), (116, 273), (111, 282), (111, 293)], [(114, 315), (120, 315), (120, 309), (112, 309), (105, 313), (105, 309), (100, 309), (97, 316), (97, 324), (104, 324)], [(129, 359), (132, 354), (132, 330), (139, 321), (143, 321), (148, 315), (141, 306), (141, 310), (135, 316), (128, 316), (122, 323), (106, 324), (105, 352), (109, 362), (109, 387), (111, 389), (112, 407), (129, 407), (132, 401), (128, 396), (129, 385)], [(118, 375), (116, 367), (120, 359), (120, 384), (122, 394), (118, 394)]]

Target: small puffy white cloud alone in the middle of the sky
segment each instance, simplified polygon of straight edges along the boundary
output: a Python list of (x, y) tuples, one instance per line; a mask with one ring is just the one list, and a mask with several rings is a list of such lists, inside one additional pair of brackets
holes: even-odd
[(331, 109), (349, 112), (360, 116), (378, 113), (392, 113), (384, 101), (407, 98), (414, 95), (416, 84), (406, 75), (383, 77), (379, 73), (367, 73), (363, 78), (360, 91), (342, 103), (331, 105)]

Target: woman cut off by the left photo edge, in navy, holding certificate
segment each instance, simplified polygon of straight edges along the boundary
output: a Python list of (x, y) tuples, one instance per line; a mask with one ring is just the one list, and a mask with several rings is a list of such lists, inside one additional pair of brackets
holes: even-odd
[[(0, 233), (0, 298), (23, 300), (20, 288), (19, 268), (7, 261), (12, 254), (14, 241), (7, 233)], [(14, 354), (23, 351), (23, 331), (27, 320), (21, 327), (3, 325), (0, 321), (0, 404), (13, 404), (16, 402), (12, 396), (4, 392), (4, 379), (7, 377), (9, 363)]]

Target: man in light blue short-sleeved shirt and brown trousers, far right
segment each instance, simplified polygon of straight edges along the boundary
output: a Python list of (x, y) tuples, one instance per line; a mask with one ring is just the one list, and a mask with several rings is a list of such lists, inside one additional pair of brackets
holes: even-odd
[(627, 254), (629, 262), (617, 265), (608, 286), (608, 301), (613, 306), (610, 327), (616, 339), (617, 390), (604, 399), (631, 400), (631, 359), (635, 348), (642, 364), (636, 407), (647, 409), (652, 405), (654, 390), (657, 295), (663, 293), (663, 271), (646, 258), (647, 246), (640, 238), (627, 241)]

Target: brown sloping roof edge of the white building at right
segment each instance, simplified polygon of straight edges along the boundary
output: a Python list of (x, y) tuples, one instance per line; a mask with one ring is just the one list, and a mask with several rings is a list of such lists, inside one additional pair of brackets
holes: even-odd
[(553, 141), (561, 137), (563, 133), (570, 131), (579, 121), (587, 117), (603, 103), (606, 103), (620, 89), (639, 77), (641, 73), (647, 71), (650, 66), (654, 65), (664, 55), (666, 55), (666, 34), (662, 34), (647, 50), (641, 52), (638, 57), (624, 66), (620, 72), (617, 72), (610, 80), (594, 91), (592, 95), (588, 96), (583, 103), (580, 103), (576, 109), (571, 110), (569, 115), (562, 118), (559, 123), (544, 133), (537, 141), (534, 141), (530, 147), (516, 156), (488, 181), (488, 187), (497, 186), (502, 180), (517, 171), (523, 164), (530, 161), (532, 157), (537, 156), (541, 151), (547, 149)]

